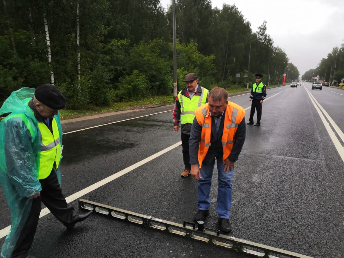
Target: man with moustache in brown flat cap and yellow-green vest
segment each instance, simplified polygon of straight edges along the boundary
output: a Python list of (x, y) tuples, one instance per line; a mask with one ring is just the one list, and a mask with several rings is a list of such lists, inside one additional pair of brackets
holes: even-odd
[(185, 169), (181, 176), (186, 177), (190, 174), (191, 164), (189, 157), (189, 138), (191, 125), (195, 118), (194, 111), (208, 102), (208, 90), (198, 84), (197, 75), (187, 74), (184, 82), (186, 87), (178, 93), (175, 100), (173, 111), (173, 129), (179, 131), (179, 122), (181, 122), (182, 152)]

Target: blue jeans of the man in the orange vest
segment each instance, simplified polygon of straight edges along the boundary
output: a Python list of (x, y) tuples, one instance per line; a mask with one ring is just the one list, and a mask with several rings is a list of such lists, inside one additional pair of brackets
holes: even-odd
[[(216, 159), (216, 163), (218, 175), (216, 211), (219, 218), (229, 218), (229, 208), (232, 204), (232, 183), (230, 180), (232, 179), (234, 169), (226, 173), (226, 171), (223, 171), (225, 166), (222, 159)], [(209, 209), (209, 194), (212, 186), (214, 165), (215, 158), (210, 164), (202, 164), (200, 168), (202, 178), (198, 180), (198, 209)]]

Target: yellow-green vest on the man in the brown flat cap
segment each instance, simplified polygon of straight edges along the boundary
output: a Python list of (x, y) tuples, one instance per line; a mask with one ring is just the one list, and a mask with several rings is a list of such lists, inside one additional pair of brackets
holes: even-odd
[(191, 99), (183, 96), (181, 91), (179, 92), (178, 100), (180, 103), (180, 121), (182, 124), (192, 123), (195, 118), (195, 110), (206, 103), (209, 90), (203, 87), (201, 89), (201, 95), (194, 95)]

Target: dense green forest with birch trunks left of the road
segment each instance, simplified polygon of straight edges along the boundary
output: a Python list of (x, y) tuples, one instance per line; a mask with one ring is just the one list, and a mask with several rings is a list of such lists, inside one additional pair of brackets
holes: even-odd
[[(61, 89), (67, 108), (173, 93), (172, 6), (3, 0), (0, 12), (0, 104), (13, 90), (46, 83)], [(176, 0), (175, 13), (178, 90), (190, 72), (208, 89), (244, 87), (255, 73), (266, 84), (281, 83), (283, 73), (298, 78), (266, 21), (254, 32), (236, 6), (220, 10), (208, 0)]]

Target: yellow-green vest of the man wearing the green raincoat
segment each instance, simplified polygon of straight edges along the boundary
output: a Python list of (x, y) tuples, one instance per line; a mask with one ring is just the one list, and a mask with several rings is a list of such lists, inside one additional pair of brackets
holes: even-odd
[(43, 122), (38, 123), (41, 132), (41, 160), (38, 179), (47, 178), (55, 165), (58, 168), (61, 159), (60, 134), (55, 119), (52, 120), (53, 133)]

